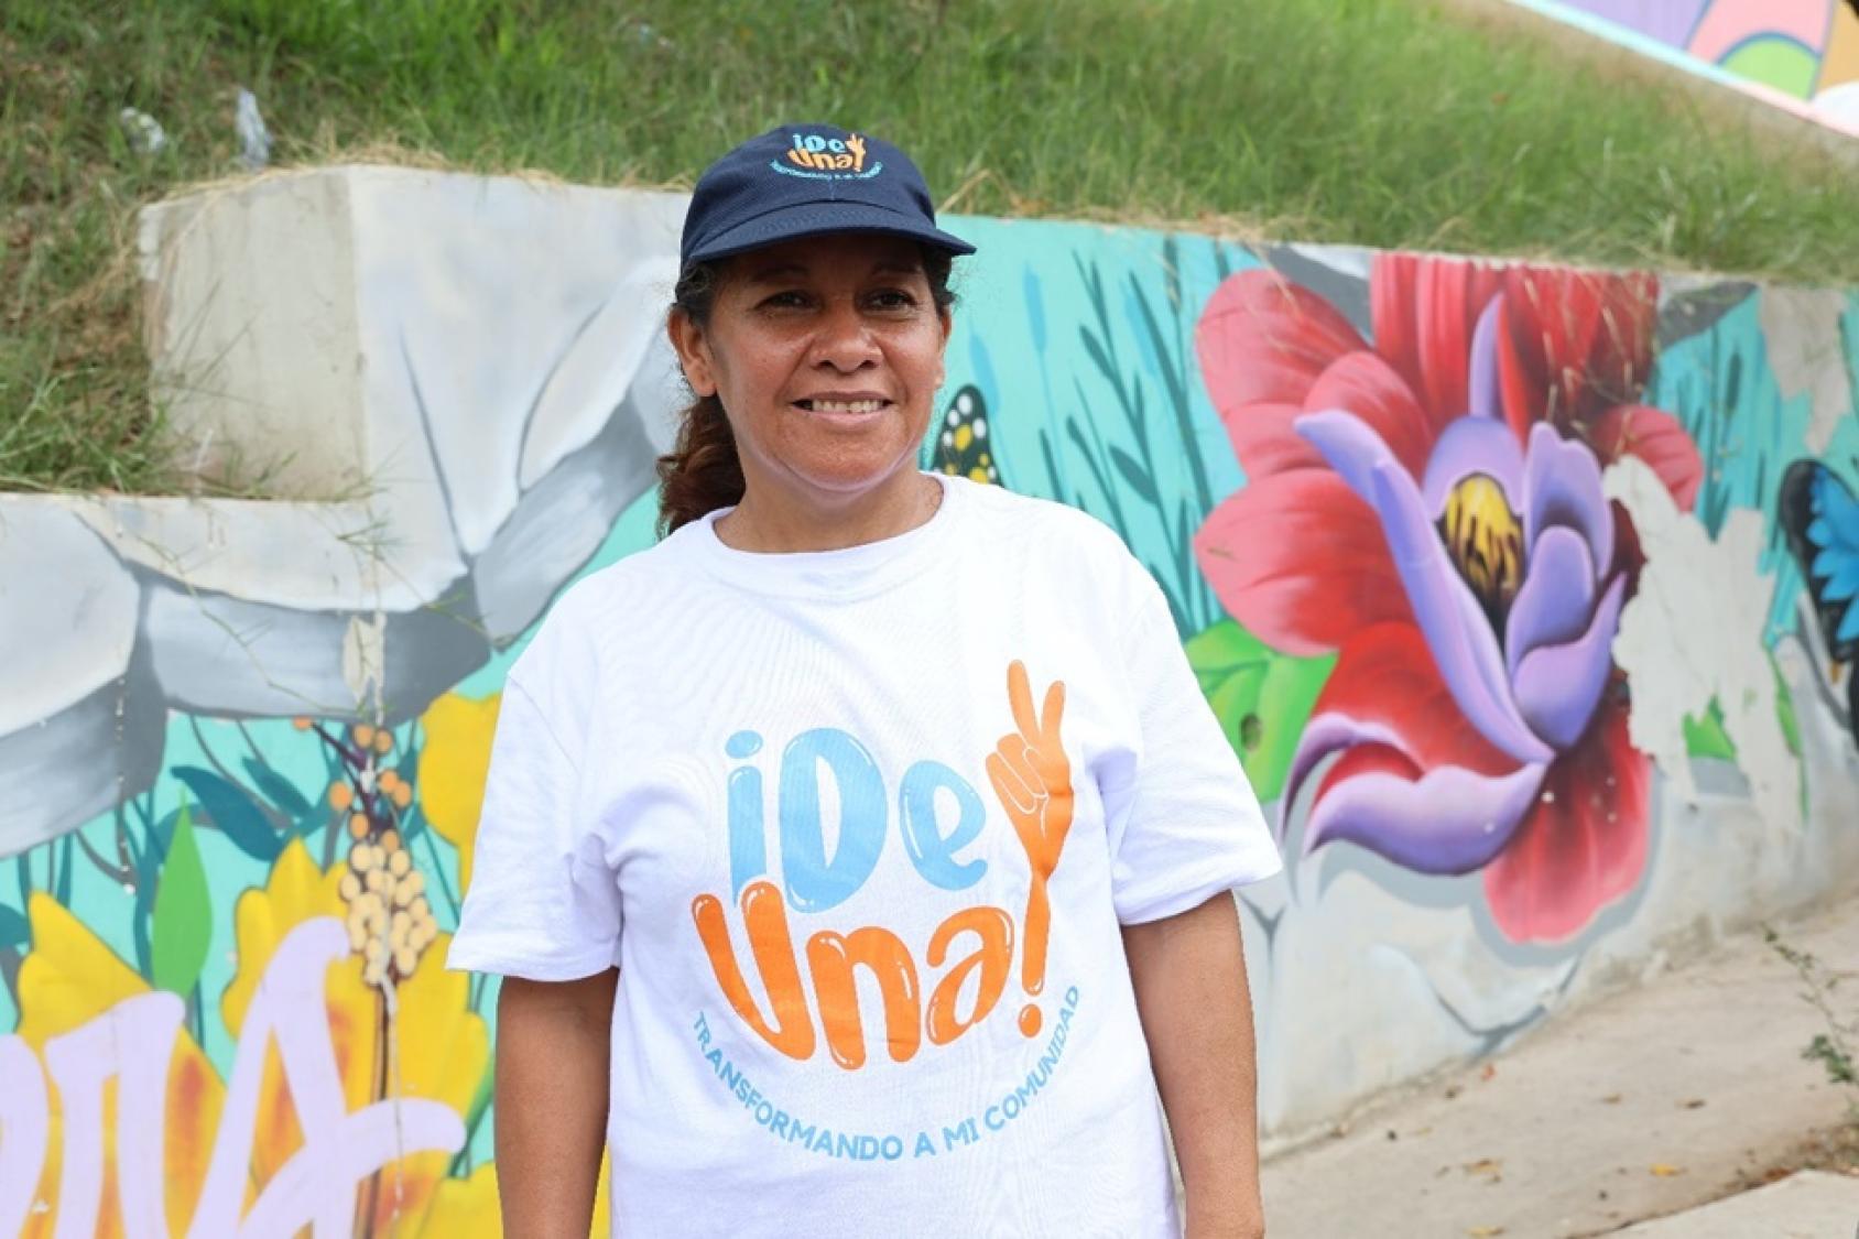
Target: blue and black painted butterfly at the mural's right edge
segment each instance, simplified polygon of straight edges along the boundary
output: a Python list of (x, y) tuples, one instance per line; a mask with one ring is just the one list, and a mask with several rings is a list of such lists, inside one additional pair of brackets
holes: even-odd
[[(1775, 500), (1781, 528), (1820, 620), (1827, 657), (1859, 657), (1859, 499), (1831, 469), (1798, 460), (1781, 476)], [(1859, 673), (1848, 668), (1846, 726), (1859, 739)]]

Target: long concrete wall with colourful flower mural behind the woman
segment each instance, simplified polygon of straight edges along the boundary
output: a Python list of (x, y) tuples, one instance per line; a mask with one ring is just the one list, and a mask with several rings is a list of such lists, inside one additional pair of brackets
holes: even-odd
[[(0, 1233), (496, 1232), (444, 953), (504, 670), (653, 538), (679, 203), (340, 210), (385, 506), (0, 504)], [(1859, 889), (1859, 298), (959, 231), (924, 463), (1162, 584), (1288, 861), (1273, 1140)]]

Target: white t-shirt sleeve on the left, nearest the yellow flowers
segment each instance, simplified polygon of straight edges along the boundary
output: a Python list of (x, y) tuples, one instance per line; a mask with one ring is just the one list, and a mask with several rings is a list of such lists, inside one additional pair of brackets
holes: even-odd
[(454, 969), (574, 980), (619, 960), (619, 886), (582, 806), (599, 677), (558, 618), (504, 685)]

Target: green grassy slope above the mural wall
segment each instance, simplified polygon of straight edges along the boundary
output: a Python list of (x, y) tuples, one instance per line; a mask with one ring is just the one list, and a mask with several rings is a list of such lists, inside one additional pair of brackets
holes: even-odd
[(0, 487), (199, 486), (125, 253), (139, 203), (236, 171), (238, 86), (277, 164), (688, 184), (837, 119), (965, 212), (1859, 283), (1852, 164), (1422, 0), (4, 0)]

